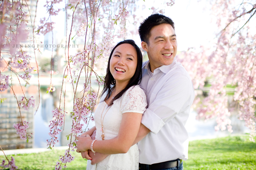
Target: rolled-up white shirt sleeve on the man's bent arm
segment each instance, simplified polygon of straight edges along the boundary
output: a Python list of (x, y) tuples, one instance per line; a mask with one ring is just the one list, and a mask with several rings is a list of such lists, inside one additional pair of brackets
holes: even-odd
[(187, 76), (183, 74), (171, 76), (157, 94), (150, 95), (150, 102), (141, 123), (157, 134), (166, 122), (190, 107), (186, 103), (189, 103), (191, 89), (191, 81)]

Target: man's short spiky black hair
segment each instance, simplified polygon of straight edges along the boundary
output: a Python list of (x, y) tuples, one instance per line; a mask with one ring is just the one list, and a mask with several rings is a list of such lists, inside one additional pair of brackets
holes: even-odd
[(139, 26), (139, 35), (141, 41), (144, 41), (148, 44), (151, 29), (154, 26), (160, 24), (170, 24), (174, 29), (174, 22), (169, 17), (158, 13), (152, 14), (149, 17), (147, 17), (147, 19), (145, 19), (143, 22), (141, 22)]

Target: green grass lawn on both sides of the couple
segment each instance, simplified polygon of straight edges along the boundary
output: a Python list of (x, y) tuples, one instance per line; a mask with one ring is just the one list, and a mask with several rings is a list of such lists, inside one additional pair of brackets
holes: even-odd
[[(64, 151), (52, 150), (37, 154), (13, 156), (16, 166), (22, 170), (54, 169), (59, 155)], [(87, 161), (71, 152), (75, 160), (67, 164), (66, 170), (85, 170)], [(0, 160), (4, 156), (0, 156)], [(189, 142), (189, 159), (184, 161), (184, 170), (256, 170), (256, 143), (249, 136), (223, 137)], [(63, 168), (64, 169), (64, 168)]]

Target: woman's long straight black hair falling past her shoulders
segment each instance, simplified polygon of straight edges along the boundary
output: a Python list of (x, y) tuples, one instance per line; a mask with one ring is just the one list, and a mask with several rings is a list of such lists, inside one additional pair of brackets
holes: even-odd
[(117, 45), (115, 45), (115, 47), (112, 49), (112, 51), (111, 51), (111, 53), (109, 55), (109, 62), (108, 62), (108, 67), (107, 67), (107, 73), (106, 73), (106, 76), (105, 76), (105, 84), (104, 84), (104, 88), (103, 88), (103, 91), (102, 91), (100, 97), (102, 97), (102, 95), (106, 92), (107, 95), (106, 95), (104, 100), (108, 99), (111, 96), (111, 94), (112, 94), (113, 87), (115, 87), (115, 79), (112, 76), (112, 74), (110, 73), (110, 69), (109, 69), (109, 67), (110, 67), (110, 59), (111, 59), (111, 56), (112, 56), (115, 48), (117, 48), (121, 44), (130, 44), (130, 45), (132, 45), (135, 48), (136, 53), (137, 53), (137, 67), (136, 67), (136, 71), (135, 71), (134, 75), (132, 76), (132, 78), (128, 82), (127, 86), (122, 91), (120, 91), (114, 97), (114, 99), (112, 99), (112, 101), (111, 101), (109, 106), (111, 106), (116, 99), (120, 98), (124, 94), (124, 92), (127, 91), (130, 87), (140, 83), (141, 76), (142, 76), (141, 67), (142, 67), (142, 60), (143, 59), (142, 59), (142, 54), (141, 54), (140, 48), (131, 39), (127, 39), (127, 40), (121, 41)]

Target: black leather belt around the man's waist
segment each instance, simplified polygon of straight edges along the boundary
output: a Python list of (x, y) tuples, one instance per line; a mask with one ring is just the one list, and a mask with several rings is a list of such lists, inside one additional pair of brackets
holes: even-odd
[[(180, 159), (180, 164), (182, 163), (182, 159)], [(166, 162), (160, 162), (160, 163), (154, 163), (152, 165), (142, 164), (139, 163), (139, 169), (147, 169), (147, 166), (149, 169), (165, 169), (165, 168), (174, 168), (176, 166), (179, 166), (179, 160), (170, 160)]]

